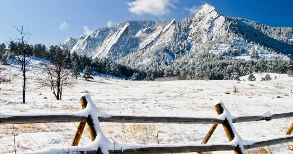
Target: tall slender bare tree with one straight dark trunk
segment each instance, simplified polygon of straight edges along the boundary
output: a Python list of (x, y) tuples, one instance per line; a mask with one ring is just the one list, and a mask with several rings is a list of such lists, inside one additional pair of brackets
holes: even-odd
[[(13, 25), (12, 25), (13, 26)], [(25, 103), (25, 89), (26, 89), (26, 71), (28, 70), (28, 62), (30, 62), (30, 57), (28, 57), (28, 40), (30, 39), (30, 33), (28, 33), (27, 29), (24, 29), (23, 26), (20, 28), (17, 28), (16, 26), (13, 26), (16, 28), (16, 30), (19, 32), (19, 35), (16, 35), (16, 38), (13, 40), (16, 40), (18, 43), (15, 44), (11, 38), (6, 41), (6, 43), (9, 45), (9, 50), (17, 57), (17, 63), (21, 65), (21, 72), (23, 76), (23, 93), (22, 93), (22, 102)]]

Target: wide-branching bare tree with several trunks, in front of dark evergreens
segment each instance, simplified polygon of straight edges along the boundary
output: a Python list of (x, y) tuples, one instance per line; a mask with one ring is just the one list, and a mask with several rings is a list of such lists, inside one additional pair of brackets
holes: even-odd
[(68, 52), (60, 46), (51, 46), (49, 52), (51, 63), (43, 58), (45, 68), (42, 74), (44, 77), (39, 77), (38, 81), (41, 83), (41, 87), (50, 87), (56, 99), (61, 100), (62, 88), (70, 88), (74, 84), (71, 73), (67, 70), (66, 57)]

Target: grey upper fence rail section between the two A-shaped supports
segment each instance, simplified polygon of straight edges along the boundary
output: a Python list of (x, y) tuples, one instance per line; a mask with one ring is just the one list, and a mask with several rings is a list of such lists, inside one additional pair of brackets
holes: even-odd
[(213, 118), (182, 118), (182, 117), (147, 117), (147, 116), (111, 116), (99, 117), (100, 122), (115, 123), (198, 123), (198, 124), (222, 124), (224, 120)]

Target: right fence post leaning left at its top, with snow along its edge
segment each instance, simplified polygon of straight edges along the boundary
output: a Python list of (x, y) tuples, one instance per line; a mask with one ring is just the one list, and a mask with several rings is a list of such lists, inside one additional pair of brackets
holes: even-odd
[[(216, 109), (216, 112), (217, 112), (218, 115), (224, 113), (224, 108), (225, 108), (225, 106), (224, 106), (224, 104), (222, 102), (220, 102), (220, 103), (218, 103), (218, 104), (215, 105), (215, 109)], [(230, 115), (229, 111), (226, 111), (226, 112), (228, 112), (228, 113), (226, 113), (227, 115), (228, 114)], [(227, 119), (227, 118), (231, 118), (231, 117), (227, 117), (227, 115), (226, 115), (226, 117), (224, 119), (224, 123), (222, 125), (224, 127), (224, 130), (226, 132), (226, 135), (227, 135), (229, 141), (231, 142), (232, 140), (234, 140), (234, 138), (235, 138), (235, 134), (234, 133), (236, 133), (236, 132), (233, 132), (234, 126), (233, 126), (233, 128), (231, 126), (231, 125), (233, 125), (232, 120), (229, 119), (231, 121), (231, 123), (230, 123), (229, 120)], [(237, 143), (237, 146), (236, 146), (236, 149), (234, 150), (234, 153), (235, 154), (243, 154), (241, 148), (243, 149), (243, 146), (240, 147), (240, 145)]]

